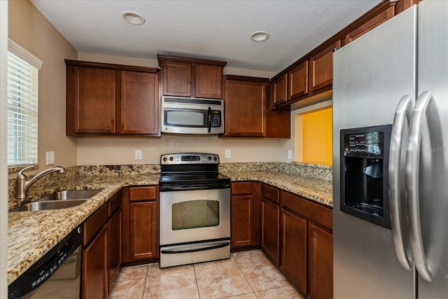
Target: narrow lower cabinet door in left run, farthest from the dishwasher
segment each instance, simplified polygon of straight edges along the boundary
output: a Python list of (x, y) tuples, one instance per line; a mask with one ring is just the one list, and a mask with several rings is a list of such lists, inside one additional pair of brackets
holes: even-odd
[(123, 223), (123, 211), (118, 209), (109, 218), (108, 223), (108, 253), (109, 253), (109, 290), (112, 288), (113, 281), (115, 281), (118, 270), (121, 264), (121, 243), (122, 232), (121, 225)]

